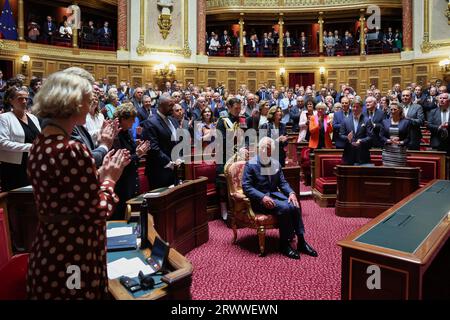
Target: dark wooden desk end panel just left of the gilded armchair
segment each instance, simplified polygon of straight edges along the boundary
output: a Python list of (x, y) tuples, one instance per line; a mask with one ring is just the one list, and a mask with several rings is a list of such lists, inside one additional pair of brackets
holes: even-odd
[[(181, 254), (186, 254), (209, 239), (207, 180), (205, 177), (188, 180), (147, 197), (156, 231)], [(140, 211), (142, 199), (141, 195), (127, 201), (132, 212)]]

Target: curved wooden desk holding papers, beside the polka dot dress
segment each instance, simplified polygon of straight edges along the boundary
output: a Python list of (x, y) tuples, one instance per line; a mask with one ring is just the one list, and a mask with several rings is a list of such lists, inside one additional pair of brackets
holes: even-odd
[[(108, 225), (118, 224), (120, 222), (108, 222)], [(122, 222), (126, 224), (126, 222)], [(122, 226), (122, 225), (121, 225)], [(148, 239), (150, 243), (153, 244), (155, 238), (158, 235), (153, 226), (153, 217), (148, 216)], [(115, 261), (121, 257), (136, 257), (147, 258), (151, 254), (150, 249), (143, 251), (140, 250), (130, 250), (130, 251), (119, 251), (107, 253), (108, 262)], [(138, 291), (136, 293), (131, 293), (125, 289), (119, 282), (118, 279), (108, 281), (108, 289), (111, 295), (116, 300), (184, 300), (191, 298), (191, 283), (192, 283), (192, 264), (182, 256), (178, 251), (173, 248), (169, 250), (168, 256), (168, 267), (171, 272), (163, 276), (154, 276), (155, 282), (162, 282), (155, 285), (153, 290), (149, 291)]]

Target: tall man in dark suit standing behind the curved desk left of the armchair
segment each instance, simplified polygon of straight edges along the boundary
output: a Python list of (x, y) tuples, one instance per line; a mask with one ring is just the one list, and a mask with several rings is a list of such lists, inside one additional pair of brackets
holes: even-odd
[(151, 190), (174, 184), (176, 166), (181, 164), (179, 159), (172, 159), (171, 155), (172, 149), (177, 144), (177, 124), (170, 117), (173, 106), (174, 101), (170, 95), (163, 94), (156, 115), (141, 125), (142, 139), (150, 141), (145, 175)]

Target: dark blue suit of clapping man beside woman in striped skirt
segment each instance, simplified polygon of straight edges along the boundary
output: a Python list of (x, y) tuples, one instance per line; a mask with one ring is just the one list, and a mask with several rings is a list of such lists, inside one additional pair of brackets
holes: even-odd
[[(350, 132), (353, 131), (353, 140), (361, 140), (359, 147), (354, 147), (347, 139)], [(355, 163), (370, 163), (370, 145), (372, 141), (372, 124), (363, 114), (359, 118), (358, 128), (353, 126), (353, 116), (345, 119), (339, 131), (340, 138), (345, 140), (344, 154), (342, 161), (346, 165), (354, 165)]]

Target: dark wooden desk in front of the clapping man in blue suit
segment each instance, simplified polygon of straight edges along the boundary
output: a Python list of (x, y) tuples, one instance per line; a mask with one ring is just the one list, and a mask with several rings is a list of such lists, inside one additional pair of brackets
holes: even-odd
[(337, 166), (336, 215), (374, 218), (419, 189), (420, 168)]

